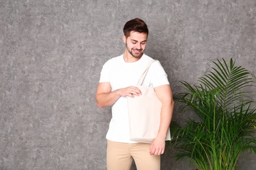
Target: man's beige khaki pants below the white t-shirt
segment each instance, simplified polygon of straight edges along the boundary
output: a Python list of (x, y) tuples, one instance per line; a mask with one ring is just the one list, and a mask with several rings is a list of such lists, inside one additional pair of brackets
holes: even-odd
[(138, 170), (160, 170), (160, 156), (149, 154), (148, 143), (117, 143), (108, 140), (108, 170), (129, 170), (133, 160)]

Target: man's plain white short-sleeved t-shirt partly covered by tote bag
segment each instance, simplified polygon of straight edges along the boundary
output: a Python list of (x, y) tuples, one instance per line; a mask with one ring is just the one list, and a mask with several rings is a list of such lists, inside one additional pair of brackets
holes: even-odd
[[(109, 59), (102, 67), (99, 82), (110, 82), (112, 91), (128, 86), (136, 86), (142, 72), (146, 69), (148, 62), (152, 60), (146, 54), (133, 63), (126, 63), (123, 55)], [(150, 66), (143, 86), (157, 87), (169, 84), (167, 74), (159, 61)], [(136, 143), (129, 140), (129, 121), (127, 110), (127, 97), (120, 97), (112, 105), (112, 119), (106, 139), (119, 143)]]

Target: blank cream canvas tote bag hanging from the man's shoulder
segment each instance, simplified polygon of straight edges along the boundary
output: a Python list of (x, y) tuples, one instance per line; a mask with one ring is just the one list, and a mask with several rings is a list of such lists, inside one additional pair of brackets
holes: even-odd
[[(142, 95), (127, 98), (130, 140), (139, 143), (152, 143), (160, 127), (161, 101), (158, 99), (154, 88), (141, 86), (150, 65), (154, 61), (156, 60), (152, 59), (148, 63), (137, 84)], [(165, 140), (171, 140), (170, 129), (167, 131)]]

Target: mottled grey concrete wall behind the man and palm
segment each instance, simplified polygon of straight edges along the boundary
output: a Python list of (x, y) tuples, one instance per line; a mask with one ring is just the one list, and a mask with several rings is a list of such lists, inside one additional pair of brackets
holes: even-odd
[[(104, 62), (123, 53), (132, 18), (148, 24), (146, 54), (174, 93), (217, 58), (256, 73), (255, 0), (0, 0), (0, 16), (0, 169), (106, 169), (111, 115), (96, 107), (96, 86)], [(188, 161), (167, 150), (161, 166)], [(255, 156), (238, 168), (255, 169)]]

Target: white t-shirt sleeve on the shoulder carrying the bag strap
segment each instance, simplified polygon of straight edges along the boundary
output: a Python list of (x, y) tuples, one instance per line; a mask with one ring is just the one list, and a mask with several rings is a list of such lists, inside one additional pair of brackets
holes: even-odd
[(152, 84), (154, 88), (169, 84), (167, 74), (161, 66), (160, 61), (155, 61), (154, 63), (152, 63), (148, 71), (152, 71), (152, 78), (150, 84)]

